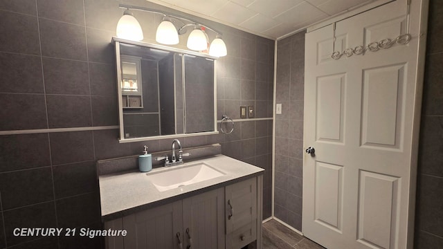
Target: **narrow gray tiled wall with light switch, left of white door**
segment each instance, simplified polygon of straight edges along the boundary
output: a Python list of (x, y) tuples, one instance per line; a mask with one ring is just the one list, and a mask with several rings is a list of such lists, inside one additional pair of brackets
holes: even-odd
[(301, 231), (305, 32), (277, 42), (274, 215)]

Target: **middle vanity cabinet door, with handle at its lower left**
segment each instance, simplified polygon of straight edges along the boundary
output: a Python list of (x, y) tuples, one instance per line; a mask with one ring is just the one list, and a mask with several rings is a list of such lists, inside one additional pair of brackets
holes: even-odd
[(224, 249), (224, 188), (183, 200), (183, 234), (185, 248)]

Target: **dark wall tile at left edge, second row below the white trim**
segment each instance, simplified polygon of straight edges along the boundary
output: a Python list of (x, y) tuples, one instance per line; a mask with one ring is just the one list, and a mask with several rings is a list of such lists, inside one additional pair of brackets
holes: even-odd
[(0, 174), (3, 210), (54, 199), (51, 167)]

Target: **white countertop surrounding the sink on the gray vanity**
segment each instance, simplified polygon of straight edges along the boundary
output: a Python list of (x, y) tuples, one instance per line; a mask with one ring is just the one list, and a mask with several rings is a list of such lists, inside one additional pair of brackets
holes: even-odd
[[(193, 183), (172, 190), (159, 192), (151, 183), (147, 175), (156, 174), (165, 170), (179, 167), (186, 167), (196, 163), (206, 163), (215, 169), (223, 172), (224, 176), (219, 176), (207, 181)], [(100, 206), (102, 220), (110, 221), (121, 216), (126, 216), (134, 212), (153, 208), (171, 201), (205, 192), (206, 189), (222, 187), (236, 180), (242, 180), (252, 176), (260, 175), (264, 169), (255, 167), (240, 160), (228, 156), (217, 155), (201, 160), (194, 160), (172, 167), (159, 167), (151, 172), (122, 172), (118, 174), (108, 174), (99, 176), (100, 186)]]

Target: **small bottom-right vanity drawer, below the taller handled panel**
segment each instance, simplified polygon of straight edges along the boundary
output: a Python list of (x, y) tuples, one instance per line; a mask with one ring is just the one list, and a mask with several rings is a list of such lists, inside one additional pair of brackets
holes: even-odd
[(240, 249), (257, 239), (257, 221), (226, 234), (226, 249)]

